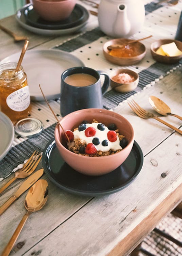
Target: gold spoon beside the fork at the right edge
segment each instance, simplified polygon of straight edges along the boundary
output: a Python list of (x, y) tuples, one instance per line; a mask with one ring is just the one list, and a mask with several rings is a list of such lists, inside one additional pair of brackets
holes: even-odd
[(163, 116), (175, 116), (178, 119), (182, 120), (181, 116), (175, 115), (171, 113), (171, 109), (170, 107), (168, 107), (168, 105), (166, 105), (166, 103), (164, 103), (162, 100), (158, 99), (155, 96), (150, 96), (149, 97), (149, 102), (150, 105), (155, 109), (155, 111), (157, 111), (159, 114), (163, 115)]

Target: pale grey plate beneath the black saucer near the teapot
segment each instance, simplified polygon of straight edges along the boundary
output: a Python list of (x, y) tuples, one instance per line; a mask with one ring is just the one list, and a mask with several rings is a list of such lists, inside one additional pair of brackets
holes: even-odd
[[(26, 7), (27, 5), (25, 5), (24, 7)], [(18, 23), (20, 24), (20, 26), (22, 26), (23, 28), (36, 33), (38, 35), (45, 35), (45, 36), (55, 36), (55, 35), (65, 35), (65, 34), (70, 34), (73, 33), (75, 31), (79, 31), (81, 28), (83, 28), (86, 23), (88, 22), (89, 19), (89, 12), (85, 13), (85, 18), (84, 18), (84, 22), (81, 23), (78, 26), (75, 26), (73, 28), (67, 28), (67, 29), (42, 29), (42, 28), (36, 28), (33, 26), (30, 26), (27, 22), (26, 19), (24, 17), (23, 14), (23, 9), (24, 7), (20, 10), (18, 10), (18, 12), (16, 13), (16, 20), (18, 21)]]

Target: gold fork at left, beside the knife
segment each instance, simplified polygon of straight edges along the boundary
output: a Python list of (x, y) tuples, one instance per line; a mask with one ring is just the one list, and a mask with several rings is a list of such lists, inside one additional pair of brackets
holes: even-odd
[(1, 189), (0, 194), (10, 186), (16, 179), (23, 179), (28, 177), (34, 170), (36, 170), (37, 165), (39, 164), (42, 156), (36, 151), (33, 152), (27, 163), (24, 164), (23, 168), (19, 171), (16, 171), (14, 174), (14, 178), (9, 180)]

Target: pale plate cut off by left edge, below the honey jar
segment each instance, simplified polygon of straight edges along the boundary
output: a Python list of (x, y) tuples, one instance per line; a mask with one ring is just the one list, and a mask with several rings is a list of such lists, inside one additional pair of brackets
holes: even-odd
[(11, 149), (14, 140), (14, 126), (10, 118), (0, 111), (0, 161)]

